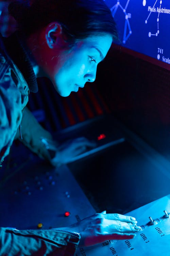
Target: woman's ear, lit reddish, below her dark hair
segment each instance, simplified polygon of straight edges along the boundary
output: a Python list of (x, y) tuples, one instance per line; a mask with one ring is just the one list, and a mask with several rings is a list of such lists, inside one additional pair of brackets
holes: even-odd
[(52, 22), (48, 24), (46, 28), (46, 41), (49, 48), (53, 49), (57, 45), (57, 41), (61, 41), (61, 36), (62, 26), (60, 23)]

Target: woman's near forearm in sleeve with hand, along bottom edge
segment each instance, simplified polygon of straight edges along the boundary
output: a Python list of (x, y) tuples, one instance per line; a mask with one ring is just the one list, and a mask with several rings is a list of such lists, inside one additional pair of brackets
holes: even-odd
[(0, 255), (74, 256), (79, 246), (106, 240), (129, 240), (140, 230), (134, 217), (96, 213), (66, 228), (16, 230), (0, 228)]

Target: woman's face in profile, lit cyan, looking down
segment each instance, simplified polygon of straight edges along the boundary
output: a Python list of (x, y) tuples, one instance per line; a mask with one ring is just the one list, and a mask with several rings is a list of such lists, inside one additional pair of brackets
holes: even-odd
[(97, 65), (102, 61), (112, 44), (109, 34), (88, 37), (71, 49), (53, 47), (42, 53), (43, 71), (52, 81), (56, 91), (63, 97), (77, 92), (86, 82), (94, 82)]

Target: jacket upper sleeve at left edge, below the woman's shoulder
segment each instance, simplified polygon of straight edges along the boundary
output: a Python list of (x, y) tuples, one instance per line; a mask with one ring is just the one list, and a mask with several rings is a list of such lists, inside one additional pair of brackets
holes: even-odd
[[(0, 65), (0, 164), (9, 153), (24, 107), (21, 92), (11, 76), (12, 69), (5, 67), (5, 64)], [(24, 103), (27, 101), (26, 98)]]

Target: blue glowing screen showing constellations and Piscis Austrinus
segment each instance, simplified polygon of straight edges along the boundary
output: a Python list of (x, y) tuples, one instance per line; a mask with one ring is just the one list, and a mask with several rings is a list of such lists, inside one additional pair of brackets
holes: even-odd
[(105, 0), (122, 46), (170, 64), (169, 0)]

